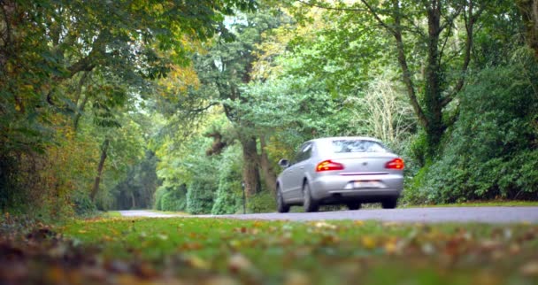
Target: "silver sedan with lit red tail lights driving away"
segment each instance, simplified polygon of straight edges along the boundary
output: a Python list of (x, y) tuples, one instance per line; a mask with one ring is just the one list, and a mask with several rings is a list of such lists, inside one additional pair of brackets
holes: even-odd
[(404, 160), (371, 137), (327, 137), (304, 143), (293, 160), (281, 159), (277, 178), (277, 210), (304, 205), (317, 212), (321, 204), (380, 202), (396, 208), (404, 189)]

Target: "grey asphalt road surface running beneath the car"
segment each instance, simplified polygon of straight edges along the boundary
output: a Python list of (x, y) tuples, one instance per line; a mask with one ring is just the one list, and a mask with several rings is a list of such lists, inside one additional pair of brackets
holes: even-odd
[(241, 220), (381, 220), (398, 222), (483, 222), (538, 224), (538, 207), (440, 207), (405, 209), (363, 209), (334, 212), (257, 213), (246, 215), (185, 216), (143, 210), (120, 211), (125, 217), (173, 218), (232, 218)]

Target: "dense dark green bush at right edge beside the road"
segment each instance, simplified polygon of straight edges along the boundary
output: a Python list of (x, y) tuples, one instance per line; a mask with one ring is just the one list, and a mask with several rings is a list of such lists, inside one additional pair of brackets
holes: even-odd
[(521, 50), (477, 74), (460, 96), (459, 119), (442, 156), (415, 177), (420, 191), (410, 199), (536, 199), (537, 79), (538, 64)]

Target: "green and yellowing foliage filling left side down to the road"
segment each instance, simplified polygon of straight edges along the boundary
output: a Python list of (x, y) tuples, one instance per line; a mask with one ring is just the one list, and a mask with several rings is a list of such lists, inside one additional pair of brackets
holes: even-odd
[[(126, 117), (159, 93), (156, 80), (188, 65), (201, 41), (231, 38), (225, 17), (255, 8), (250, 0), (2, 2), (0, 207), (70, 214), (71, 194), (91, 189), (88, 176), (102, 178), (96, 204), (117, 206), (111, 189), (147, 143)], [(96, 151), (109, 139), (96, 173)], [(155, 187), (132, 189), (144, 201), (132, 206), (150, 204)]]

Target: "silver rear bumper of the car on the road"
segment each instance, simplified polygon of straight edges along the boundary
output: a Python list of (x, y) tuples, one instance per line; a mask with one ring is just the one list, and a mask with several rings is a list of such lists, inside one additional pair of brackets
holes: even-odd
[[(355, 187), (355, 181), (375, 184), (374, 187)], [(385, 175), (327, 175), (319, 176), (311, 181), (312, 198), (318, 201), (357, 200), (363, 202), (379, 202), (383, 198), (400, 196), (404, 189), (404, 176)]]

